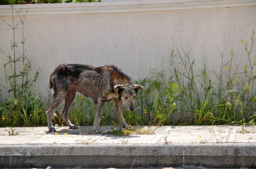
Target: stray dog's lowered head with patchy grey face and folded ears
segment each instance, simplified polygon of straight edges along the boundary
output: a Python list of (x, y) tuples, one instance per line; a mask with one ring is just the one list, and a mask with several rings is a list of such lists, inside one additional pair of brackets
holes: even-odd
[(143, 86), (126, 83), (123, 85), (115, 85), (114, 89), (117, 91), (119, 99), (123, 101), (126, 110), (134, 111), (135, 97), (139, 90), (143, 90)]

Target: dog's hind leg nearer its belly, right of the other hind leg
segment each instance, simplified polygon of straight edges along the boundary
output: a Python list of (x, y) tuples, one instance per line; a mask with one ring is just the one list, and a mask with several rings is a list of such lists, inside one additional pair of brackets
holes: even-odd
[(65, 96), (65, 105), (60, 114), (62, 116), (62, 118), (64, 119), (64, 121), (69, 126), (69, 129), (78, 129), (78, 127), (76, 125), (73, 125), (69, 120), (69, 108), (70, 108), (75, 96), (76, 96), (76, 92), (72, 88), (69, 88), (69, 90), (67, 91), (67, 94)]

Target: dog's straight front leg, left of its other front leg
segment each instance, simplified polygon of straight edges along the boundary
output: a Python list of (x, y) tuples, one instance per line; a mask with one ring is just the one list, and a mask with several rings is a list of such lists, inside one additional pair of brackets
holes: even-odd
[(103, 107), (105, 101), (105, 97), (98, 97), (98, 105), (97, 105), (97, 111), (95, 114), (95, 119), (94, 119), (94, 133), (95, 134), (100, 134), (100, 116), (101, 116), (101, 110)]

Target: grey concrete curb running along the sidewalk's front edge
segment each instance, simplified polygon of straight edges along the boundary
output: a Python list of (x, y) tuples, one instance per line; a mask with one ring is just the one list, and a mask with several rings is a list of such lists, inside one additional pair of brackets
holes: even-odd
[(0, 167), (162, 167), (202, 165), (256, 168), (253, 143), (3, 145)]

